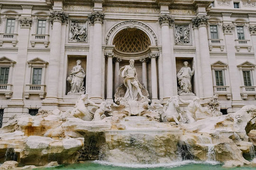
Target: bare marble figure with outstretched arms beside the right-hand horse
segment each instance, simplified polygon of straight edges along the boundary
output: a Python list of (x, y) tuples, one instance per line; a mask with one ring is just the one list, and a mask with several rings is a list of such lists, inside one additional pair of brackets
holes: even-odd
[(195, 113), (197, 111), (201, 113), (211, 114), (211, 112), (208, 109), (203, 108), (201, 106), (201, 104), (199, 103), (200, 99), (198, 97), (188, 101), (184, 101), (183, 99), (180, 98), (180, 101), (183, 102), (184, 104), (188, 104), (187, 112), (186, 112), (186, 117), (187, 117), (186, 123), (188, 124), (194, 123), (197, 121), (195, 116)]

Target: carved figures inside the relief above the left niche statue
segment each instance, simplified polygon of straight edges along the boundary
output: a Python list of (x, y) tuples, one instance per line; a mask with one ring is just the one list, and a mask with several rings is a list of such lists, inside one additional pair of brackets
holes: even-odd
[(82, 41), (85, 42), (87, 37), (87, 31), (84, 26), (80, 26), (79, 23), (71, 23), (70, 27), (70, 41)]

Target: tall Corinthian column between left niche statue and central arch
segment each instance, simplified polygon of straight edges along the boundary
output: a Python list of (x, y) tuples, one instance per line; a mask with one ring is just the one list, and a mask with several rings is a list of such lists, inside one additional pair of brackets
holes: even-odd
[(97, 102), (102, 101), (102, 24), (104, 21), (104, 13), (92, 12), (88, 18), (92, 24), (94, 24), (94, 35), (93, 35), (93, 57), (92, 57), (92, 74), (94, 75), (91, 79), (91, 99)]

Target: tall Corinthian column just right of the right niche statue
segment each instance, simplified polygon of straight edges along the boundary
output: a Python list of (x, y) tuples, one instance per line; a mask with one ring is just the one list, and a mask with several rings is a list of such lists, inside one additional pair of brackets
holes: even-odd
[[(208, 38), (207, 38), (207, 22), (209, 20), (208, 16), (197, 16), (196, 18), (192, 19), (192, 23), (194, 27), (198, 28), (199, 32), (199, 54), (201, 63), (201, 74), (202, 74), (202, 87), (204, 98), (210, 98), (213, 96), (213, 83), (209, 81), (212, 76), (211, 72), (211, 64), (210, 64), (210, 53), (208, 47)], [(199, 69), (199, 68), (198, 68)]]

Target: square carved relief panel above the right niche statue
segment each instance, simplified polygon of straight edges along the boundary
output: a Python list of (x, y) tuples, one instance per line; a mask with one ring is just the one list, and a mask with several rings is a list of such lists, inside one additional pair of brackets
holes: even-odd
[(190, 44), (190, 28), (188, 24), (175, 24), (175, 45)]

